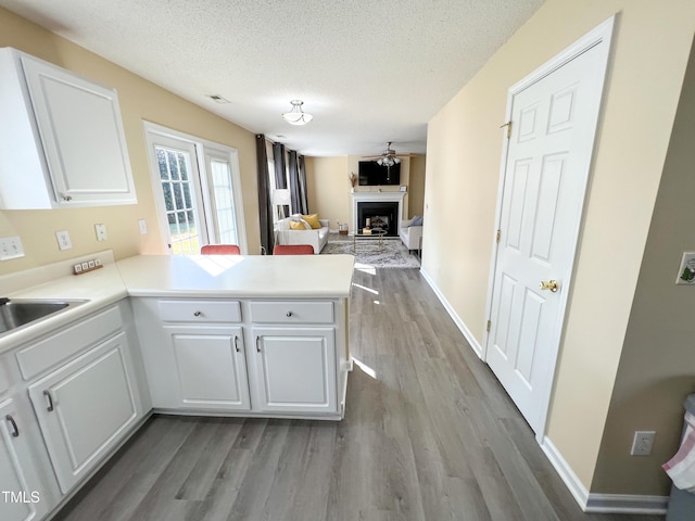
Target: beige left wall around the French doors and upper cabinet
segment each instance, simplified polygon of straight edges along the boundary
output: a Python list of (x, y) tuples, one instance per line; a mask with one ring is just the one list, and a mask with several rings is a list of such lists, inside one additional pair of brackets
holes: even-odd
[[(143, 119), (239, 151), (249, 252), (260, 251), (252, 134), (1, 8), (0, 47), (14, 47), (117, 89), (138, 194), (137, 205), (0, 211), (0, 237), (20, 236), (26, 253), (24, 258), (0, 263), (0, 275), (106, 249), (112, 249), (116, 258), (140, 252), (163, 253), (146, 155)], [(148, 224), (147, 236), (140, 236), (138, 229), (138, 219), (142, 218)], [(109, 240), (105, 242), (97, 242), (93, 225), (98, 223), (106, 225)], [(58, 249), (56, 230), (70, 231), (72, 250), (61, 252)]]

